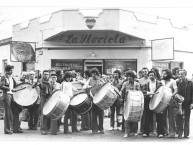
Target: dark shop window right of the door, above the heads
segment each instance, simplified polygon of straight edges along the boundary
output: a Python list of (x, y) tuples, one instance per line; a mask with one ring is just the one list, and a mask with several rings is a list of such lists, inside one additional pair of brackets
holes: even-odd
[(105, 60), (105, 73), (113, 74), (115, 70), (120, 70), (123, 72), (125, 69), (131, 68), (137, 72), (137, 60), (129, 59), (109, 59)]

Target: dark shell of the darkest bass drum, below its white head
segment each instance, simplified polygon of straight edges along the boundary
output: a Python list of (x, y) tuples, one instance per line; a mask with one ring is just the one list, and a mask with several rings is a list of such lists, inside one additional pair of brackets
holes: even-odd
[[(80, 94), (76, 94), (74, 97), (76, 97), (77, 95), (80, 95)], [(83, 102), (81, 102), (78, 105), (71, 105), (70, 104), (70, 107), (72, 108), (72, 110), (74, 110), (76, 112), (76, 114), (83, 115), (83, 114), (87, 113), (88, 111), (90, 111), (90, 109), (92, 107), (92, 98), (90, 98), (87, 95), (87, 98)]]

